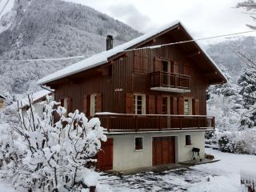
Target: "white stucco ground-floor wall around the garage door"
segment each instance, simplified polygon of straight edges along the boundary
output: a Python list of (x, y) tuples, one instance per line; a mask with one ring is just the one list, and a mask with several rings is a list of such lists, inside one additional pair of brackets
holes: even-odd
[[(186, 134), (191, 135), (191, 146), (186, 146)], [(190, 160), (192, 156), (192, 147), (200, 148), (201, 158), (204, 158), (204, 134), (204, 131), (197, 131), (108, 135), (108, 138), (114, 138), (113, 170), (130, 170), (139, 167), (152, 166), (152, 139), (153, 137), (160, 136), (175, 137), (176, 162)], [(136, 151), (134, 149), (135, 137), (143, 137), (143, 150)]]

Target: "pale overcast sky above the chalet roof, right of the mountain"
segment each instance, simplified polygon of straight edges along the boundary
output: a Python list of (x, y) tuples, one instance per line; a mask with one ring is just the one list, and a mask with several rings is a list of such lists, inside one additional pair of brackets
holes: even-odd
[[(250, 30), (254, 22), (246, 10), (234, 8), (242, 0), (68, 0), (91, 6), (146, 33), (174, 20), (182, 21), (194, 38)], [(256, 36), (256, 32), (250, 34)]]

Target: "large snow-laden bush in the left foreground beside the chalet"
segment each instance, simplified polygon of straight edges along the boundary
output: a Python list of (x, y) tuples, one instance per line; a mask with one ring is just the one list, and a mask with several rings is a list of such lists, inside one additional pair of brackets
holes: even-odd
[(18, 116), (15, 126), (1, 126), (3, 178), (30, 191), (81, 191), (97, 184), (90, 167), (106, 141), (98, 118), (88, 121), (78, 110), (66, 115), (50, 97), (42, 118), (31, 105)]

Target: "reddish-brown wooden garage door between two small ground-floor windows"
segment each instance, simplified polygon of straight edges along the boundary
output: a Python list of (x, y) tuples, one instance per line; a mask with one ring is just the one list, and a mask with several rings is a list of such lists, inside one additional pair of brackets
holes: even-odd
[(174, 137), (153, 138), (153, 166), (175, 162), (175, 139)]

